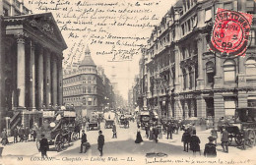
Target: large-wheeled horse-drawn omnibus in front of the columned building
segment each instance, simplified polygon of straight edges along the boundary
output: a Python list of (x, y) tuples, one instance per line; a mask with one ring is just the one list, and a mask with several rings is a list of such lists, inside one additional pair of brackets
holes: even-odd
[(43, 111), (43, 124), (36, 130), (36, 147), (39, 149), (41, 135), (60, 151), (74, 139), (75, 111)]

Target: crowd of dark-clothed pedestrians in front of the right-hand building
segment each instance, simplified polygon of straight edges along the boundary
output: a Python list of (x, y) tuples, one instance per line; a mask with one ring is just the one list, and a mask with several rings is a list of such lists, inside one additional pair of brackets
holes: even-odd
[[(200, 143), (201, 140), (197, 136), (195, 123), (189, 123), (187, 125), (182, 125), (181, 120), (173, 122), (161, 122), (160, 125), (156, 125), (156, 123), (151, 124), (145, 123), (145, 135), (146, 138), (149, 138), (150, 140), (155, 140), (156, 142), (159, 141), (159, 138), (162, 137), (162, 135), (166, 134), (167, 139), (172, 139), (173, 134), (178, 134), (179, 131), (184, 131), (181, 141), (183, 142), (184, 151), (188, 152), (189, 150), (192, 150), (193, 155), (196, 156), (196, 153), (198, 152), (201, 155), (201, 148)], [(221, 130), (221, 145), (224, 149), (224, 152), (228, 152), (228, 132), (222, 128)], [(212, 129), (211, 135), (208, 138), (209, 142), (205, 144), (204, 148), (204, 156), (206, 157), (216, 157), (217, 156), (217, 139), (218, 139), (218, 130)], [(136, 136), (136, 143), (142, 142), (143, 139), (141, 138), (141, 134), (138, 131)]]

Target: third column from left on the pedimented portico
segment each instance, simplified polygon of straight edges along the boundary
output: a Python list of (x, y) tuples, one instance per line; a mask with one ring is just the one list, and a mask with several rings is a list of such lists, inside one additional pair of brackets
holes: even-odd
[(43, 105), (43, 48), (39, 46), (38, 51), (38, 106)]

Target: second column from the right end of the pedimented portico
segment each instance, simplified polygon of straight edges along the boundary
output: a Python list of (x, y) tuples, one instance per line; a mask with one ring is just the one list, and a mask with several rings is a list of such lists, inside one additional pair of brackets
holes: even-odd
[[(54, 55), (54, 54), (52, 54)], [(52, 56), (52, 105), (55, 106), (57, 104), (57, 61), (55, 56)]]

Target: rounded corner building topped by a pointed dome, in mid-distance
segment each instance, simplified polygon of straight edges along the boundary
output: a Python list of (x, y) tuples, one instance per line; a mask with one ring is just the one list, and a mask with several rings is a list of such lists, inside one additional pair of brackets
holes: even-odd
[(63, 76), (63, 101), (73, 104), (78, 116), (89, 117), (93, 111), (102, 111), (113, 105), (114, 93), (101, 67), (97, 67), (89, 47), (84, 59), (70, 66)]

